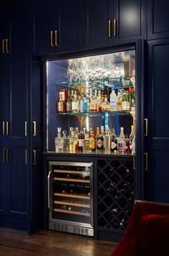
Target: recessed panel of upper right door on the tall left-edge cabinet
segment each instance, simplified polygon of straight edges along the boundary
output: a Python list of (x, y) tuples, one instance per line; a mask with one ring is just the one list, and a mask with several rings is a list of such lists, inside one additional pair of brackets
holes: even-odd
[(11, 137), (25, 137), (27, 110), (26, 60), (11, 61)]

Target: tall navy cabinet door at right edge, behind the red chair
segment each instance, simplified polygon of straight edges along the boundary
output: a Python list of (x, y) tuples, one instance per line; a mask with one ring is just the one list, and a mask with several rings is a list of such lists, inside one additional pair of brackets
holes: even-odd
[(163, 203), (169, 203), (168, 60), (168, 39), (148, 42), (147, 198)]

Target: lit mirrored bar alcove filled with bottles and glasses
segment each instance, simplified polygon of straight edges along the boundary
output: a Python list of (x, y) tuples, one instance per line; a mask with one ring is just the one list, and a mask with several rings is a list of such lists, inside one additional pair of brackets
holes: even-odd
[(135, 152), (135, 50), (47, 63), (47, 152)]

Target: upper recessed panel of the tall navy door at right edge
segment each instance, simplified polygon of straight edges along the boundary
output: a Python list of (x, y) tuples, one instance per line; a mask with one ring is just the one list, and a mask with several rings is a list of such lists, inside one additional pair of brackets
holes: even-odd
[[(160, 138), (169, 140), (168, 115), (168, 67), (169, 43), (164, 45), (154, 45), (152, 48), (151, 63), (151, 83), (149, 83), (149, 101), (151, 113), (151, 138)], [(151, 99), (151, 100), (150, 100)]]

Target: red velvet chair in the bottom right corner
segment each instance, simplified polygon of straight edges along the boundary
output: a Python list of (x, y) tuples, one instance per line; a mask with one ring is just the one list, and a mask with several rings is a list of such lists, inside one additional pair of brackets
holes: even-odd
[(111, 256), (168, 256), (169, 204), (135, 201), (127, 230)]

